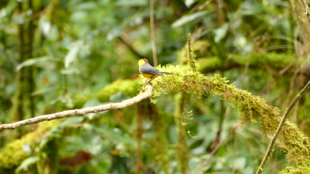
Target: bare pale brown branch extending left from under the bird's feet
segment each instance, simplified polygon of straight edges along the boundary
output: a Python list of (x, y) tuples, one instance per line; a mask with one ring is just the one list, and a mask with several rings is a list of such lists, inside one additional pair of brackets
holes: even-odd
[(142, 94), (140, 94), (134, 98), (124, 100), (124, 101), (119, 102), (119, 103), (109, 103), (109, 104), (103, 104), (103, 105), (99, 105), (99, 106), (86, 107), (83, 109), (65, 110), (62, 112), (40, 115), (40, 116), (35, 117), (35, 118), (22, 120), (22, 121), (15, 122), (15, 123), (2, 124), (2, 125), (0, 125), (0, 131), (5, 130), (5, 129), (16, 129), (16, 128), (21, 127), (21, 126), (31, 125), (31, 124), (35, 124), (35, 123), (39, 123), (39, 122), (43, 122), (43, 121), (62, 119), (65, 117), (72, 117), (72, 116), (82, 116), (82, 115), (85, 115), (87, 113), (97, 113), (97, 112), (101, 112), (101, 111), (105, 111), (105, 110), (121, 109), (121, 108), (130, 106), (130, 105), (136, 104), (136, 103), (138, 103), (142, 100), (145, 100), (147, 98), (150, 98), (152, 95), (152, 90), (153, 90), (152, 86), (147, 85), (146, 91), (144, 93), (142, 93)]

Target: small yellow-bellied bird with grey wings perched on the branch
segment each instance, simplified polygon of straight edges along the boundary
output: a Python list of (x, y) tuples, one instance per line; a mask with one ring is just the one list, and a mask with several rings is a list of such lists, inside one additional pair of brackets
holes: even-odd
[(139, 65), (139, 71), (140, 73), (145, 77), (148, 78), (148, 82), (149, 83), (152, 79), (154, 79), (157, 76), (161, 76), (163, 74), (173, 74), (173, 73), (169, 73), (169, 72), (162, 72), (159, 71), (158, 69), (152, 67), (151, 65), (149, 65), (148, 60), (147, 59), (140, 59), (138, 62)]

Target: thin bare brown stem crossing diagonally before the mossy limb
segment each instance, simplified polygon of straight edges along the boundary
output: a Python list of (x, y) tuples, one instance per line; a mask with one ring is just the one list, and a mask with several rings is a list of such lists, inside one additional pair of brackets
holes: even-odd
[(277, 130), (275, 131), (270, 143), (269, 143), (269, 147), (267, 149), (267, 152), (264, 156), (264, 159), (261, 163), (261, 165), (259, 166), (259, 168), (257, 169), (256, 173), (259, 174), (259, 173), (262, 173), (266, 163), (267, 163), (267, 160), (269, 159), (269, 157), (271, 156), (271, 153), (272, 153), (272, 149), (273, 149), (273, 146), (274, 146), (274, 143), (275, 143), (275, 140), (277, 139), (283, 125), (285, 124), (285, 121), (287, 119), (287, 116), (289, 114), (289, 112), (293, 109), (293, 107), (296, 105), (296, 103), (298, 102), (298, 100), (301, 98), (301, 96), (310, 88), (310, 81), (308, 81), (308, 83), (303, 87), (303, 89), (296, 95), (296, 97), (293, 99), (293, 101), (291, 102), (291, 104), (289, 105), (289, 107), (287, 108), (287, 110), (285, 111), (285, 113), (283, 114), (283, 117), (281, 119), (281, 122), (277, 128)]

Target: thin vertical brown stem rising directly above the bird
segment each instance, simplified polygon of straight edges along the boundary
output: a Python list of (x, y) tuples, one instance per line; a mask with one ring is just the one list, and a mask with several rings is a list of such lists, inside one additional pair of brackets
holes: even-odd
[(157, 66), (157, 52), (155, 43), (155, 28), (154, 28), (154, 0), (150, 0), (149, 3), (149, 22), (150, 22), (150, 32), (151, 32), (151, 44), (153, 52), (153, 63), (154, 67)]

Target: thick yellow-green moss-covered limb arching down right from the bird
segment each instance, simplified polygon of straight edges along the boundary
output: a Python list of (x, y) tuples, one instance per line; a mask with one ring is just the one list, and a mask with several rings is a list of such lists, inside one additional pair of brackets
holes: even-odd
[[(205, 77), (199, 72), (192, 72), (190, 67), (180, 69), (178, 66), (158, 67), (160, 71), (172, 72), (174, 76), (161, 76), (152, 81), (154, 90), (153, 97), (160, 93), (171, 94), (182, 92), (200, 98), (202, 95), (219, 95), (241, 111), (241, 123), (259, 123), (261, 130), (273, 135), (280, 122), (279, 112), (276, 107), (272, 107), (266, 101), (251, 93), (236, 89), (228, 84), (225, 78), (215, 75)], [(153, 100), (156, 101), (156, 100)], [(287, 159), (294, 161), (296, 167), (299, 164), (310, 161), (310, 142), (298, 127), (290, 122), (286, 122), (279, 134), (279, 146), (287, 152)]]

